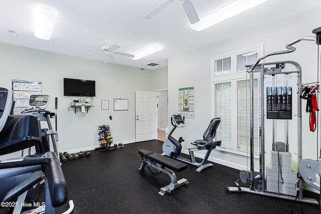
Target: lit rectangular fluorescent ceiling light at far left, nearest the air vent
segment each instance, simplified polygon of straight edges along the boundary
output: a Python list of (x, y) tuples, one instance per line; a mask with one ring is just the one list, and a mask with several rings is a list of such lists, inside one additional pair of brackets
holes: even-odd
[(57, 17), (58, 13), (54, 10), (42, 6), (36, 7), (34, 20), (35, 37), (42, 40), (50, 40)]

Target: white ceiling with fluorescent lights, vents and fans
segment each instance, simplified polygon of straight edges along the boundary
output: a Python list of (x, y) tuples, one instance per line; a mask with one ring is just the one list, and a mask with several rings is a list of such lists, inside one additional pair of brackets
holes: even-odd
[[(167, 66), (167, 59), (172, 57), (321, 7), (320, 0), (269, 0), (204, 31), (195, 32), (190, 29), (183, 2), (179, 0), (151, 20), (143, 19), (163, 1), (0, 0), (0, 42), (76, 57), (97, 51), (80, 44), (99, 49), (105, 45), (104, 39), (110, 40), (110, 45), (120, 46), (116, 51), (128, 54), (156, 43), (164, 49), (137, 61), (114, 55), (116, 64), (153, 70)], [(191, 0), (200, 18), (233, 1)], [(33, 12), (38, 5), (58, 12), (49, 41), (33, 35)], [(12, 36), (7, 29), (15, 30), (18, 36)], [(110, 62), (104, 54), (85, 58)], [(159, 65), (146, 66), (151, 62)]]

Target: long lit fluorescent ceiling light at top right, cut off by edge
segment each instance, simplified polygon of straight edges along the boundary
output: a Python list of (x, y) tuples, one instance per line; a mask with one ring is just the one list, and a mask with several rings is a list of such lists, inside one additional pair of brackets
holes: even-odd
[(217, 23), (227, 20), (236, 16), (244, 11), (254, 8), (268, 0), (237, 0), (231, 4), (209, 14), (208, 16), (200, 19), (199, 22), (191, 24), (190, 28), (194, 31), (202, 31)]

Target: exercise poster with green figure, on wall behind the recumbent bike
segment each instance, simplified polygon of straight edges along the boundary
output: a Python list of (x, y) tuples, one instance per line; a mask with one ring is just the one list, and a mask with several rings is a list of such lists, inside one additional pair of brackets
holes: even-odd
[(194, 118), (194, 87), (179, 89), (179, 113)]

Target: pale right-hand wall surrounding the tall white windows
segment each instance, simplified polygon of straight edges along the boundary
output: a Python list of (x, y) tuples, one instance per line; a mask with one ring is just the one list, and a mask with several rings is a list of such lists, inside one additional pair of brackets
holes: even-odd
[[(284, 47), (287, 43), (299, 37), (313, 36), (311, 31), (321, 25), (319, 22), (320, 13), (321, 8), (317, 8), (168, 60), (169, 116), (178, 111), (178, 89), (184, 87), (194, 87), (195, 89), (195, 118), (186, 119), (186, 127), (177, 129), (174, 133), (174, 137), (184, 137), (183, 150), (185, 149), (185, 152), (191, 147), (189, 142), (202, 138), (203, 132), (211, 119), (210, 58), (260, 44), (264, 44), (264, 54), (285, 50)], [(317, 46), (313, 42), (301, 42), (296, 44), (295, 47), (297, 48), (296, 52), (273, 56), (265, 62), (296, 61), (302, 67), (302, 83), (314, 82), (317, 77)], [(306, 125), (308, 124), (307, 113), (303, 113), (302, 124), (303, 158), (315, 159), (316, 133), (309, 132)], [(290, 128), (292, 128), (290, 130), (296, 130), (296, 127)], [(270, 134), (270, 132), (271, 129), (265, 130), (266, 134)], [(292, 156), (294, 155), (292, 154)], [(217, 149), (212, 152), (209, 160), (238, 169), (246, 169), (247, 166), (245, 156), (222, 152)]]

